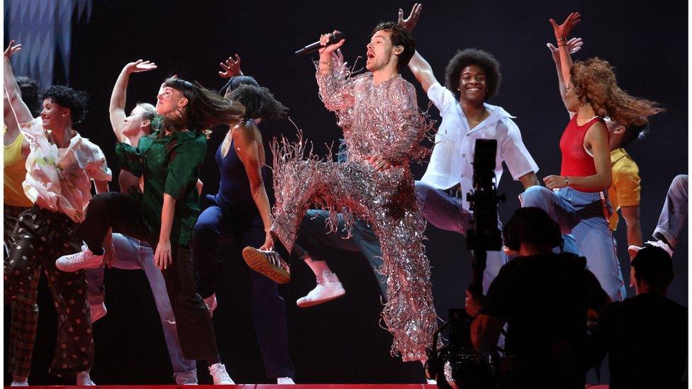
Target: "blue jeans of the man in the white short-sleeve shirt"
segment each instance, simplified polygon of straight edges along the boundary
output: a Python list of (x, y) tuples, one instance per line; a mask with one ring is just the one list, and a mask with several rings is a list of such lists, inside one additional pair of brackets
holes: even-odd
[[(422, 181), (415, 181), (415, 196), (423, 217), (441, 230), (466, 235), (471, 223), (471, 213), (462, 207), (462, 198), (452, 197), (445, 191), (433, 188)], [(499, 223), (499, 219), (498, 219)], [(504, 252), (488, 252), (486, 270), (483, 274), (483, 293), (488, 292), (490, 283), (507, 263)]]

